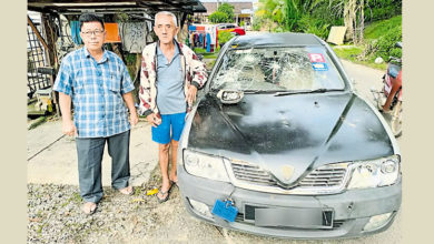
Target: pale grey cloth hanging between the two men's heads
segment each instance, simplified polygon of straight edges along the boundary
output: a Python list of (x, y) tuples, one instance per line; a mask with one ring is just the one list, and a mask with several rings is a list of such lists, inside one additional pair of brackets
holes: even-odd
[(146, 47), (146, 22), (119, 23), (119, 34), (122, 49), (129, 53), (141, 53)]

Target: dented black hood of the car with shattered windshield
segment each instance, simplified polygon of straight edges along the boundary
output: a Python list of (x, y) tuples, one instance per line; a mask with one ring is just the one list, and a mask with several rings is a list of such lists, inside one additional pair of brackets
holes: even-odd
[(323, 164), (394, 154), (377, 115), (351, 92), (245, 94), (231, 105), (207, 94), (191, 115), (188, 149), (258, 164), (280, 181), (290, 165), (286, 184)]

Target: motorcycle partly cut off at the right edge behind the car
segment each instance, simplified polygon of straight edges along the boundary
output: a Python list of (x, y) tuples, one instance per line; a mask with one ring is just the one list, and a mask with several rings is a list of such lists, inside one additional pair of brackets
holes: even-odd
[[(395, 47), (402, 49), (402, 43), (397, 42)], [(391, 116), (389, 125), (395, 138), (402, 134), (402, 59), (389, 57), (382, 91), (371, 89), (378, 111)]]

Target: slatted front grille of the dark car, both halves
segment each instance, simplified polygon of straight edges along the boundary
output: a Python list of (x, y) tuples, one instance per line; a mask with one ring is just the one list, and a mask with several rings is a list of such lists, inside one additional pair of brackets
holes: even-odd
[[(237, 181), (253, 185), (280, 187), (273, 175), (258, 165), (241, 161), (231, 161), (234, 176)], [(292, 189), (327, 189), (338, 187), (344, 183), (347, 172), (346, 164), (328, 164), (320, 166), (306, 175)]]

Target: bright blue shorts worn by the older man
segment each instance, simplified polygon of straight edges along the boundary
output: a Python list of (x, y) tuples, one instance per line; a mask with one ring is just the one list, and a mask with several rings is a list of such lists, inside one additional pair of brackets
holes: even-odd
[[(161, 123), (152, 126), (152, 141), (167, 144), (171, 140), (179, 141), (186, 122), (186, 113), (161, 114)], [(171, 125), (171, 133), (170, 133)]]

